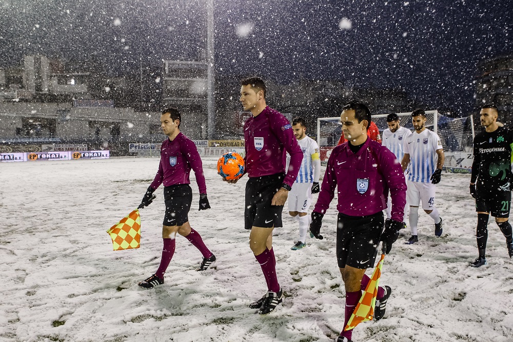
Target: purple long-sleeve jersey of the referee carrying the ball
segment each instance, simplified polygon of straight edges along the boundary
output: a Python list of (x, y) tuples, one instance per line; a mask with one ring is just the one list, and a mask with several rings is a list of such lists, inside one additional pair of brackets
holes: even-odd
[(286, 153), (290, 155), (284, 183), (292, 186), (298, 177), (303, 152), (294, 137), (292, 125), (282, 113), (269, 106), (244, 123), (246, 172), (261, 177), (285, 172)]

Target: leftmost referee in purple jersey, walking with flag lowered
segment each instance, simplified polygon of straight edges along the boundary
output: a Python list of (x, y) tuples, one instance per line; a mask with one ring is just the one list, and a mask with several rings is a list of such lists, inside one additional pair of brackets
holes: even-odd
[(155, 274), (139, 283), (140, 287), (153, 288), (164, 283), (164, 273), (171, 262), (175, 250), (176, 233), (185, 236), (203, 255), (203, 261), (196, 271), (207, 270), (215, 264), (215, 256), (208, 250), (200, 234), (193, 230), (187, 217), (192, 204), (192, 189), (189, 174), (191, 169), (196, 175), (200, 189), (199, 210), (210, 208), (207, 199), (207, 186), (203, 175), (203, 165), (196, 145), (180, 132), (182, 116), (176, 108), (162, 111), (161, 128), (168, 137), (161, 146), (159, 171), (148, 187), (140, 208), (153, 201), (153, 192), (164, 183), (164, 201), (166, 214), (162, 223), (164, 248), (159, 269)]

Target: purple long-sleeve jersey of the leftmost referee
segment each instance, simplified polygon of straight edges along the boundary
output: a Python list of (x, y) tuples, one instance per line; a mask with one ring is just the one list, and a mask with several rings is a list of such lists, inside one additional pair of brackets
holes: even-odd
[(173, 141), (166, 139), (162, 143), (159, 170), (150, 186), (156, 189), (162, 183), (164, 186), (190, 184), (191, 168), (196, 175), (200, 194), (206, 194), (207, 185), (198, 148), (180, 132)]

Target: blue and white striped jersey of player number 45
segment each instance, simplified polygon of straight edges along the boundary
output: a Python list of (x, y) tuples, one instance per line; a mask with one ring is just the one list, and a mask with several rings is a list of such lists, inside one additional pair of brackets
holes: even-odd
[(429, 129), (424, 129), (422, 133), (413, 132), (406, 138), (403, 152), (410, 155), (408, 180), (430, 183), (437, 167), (437, 149), (441, 148), (440, 137)]

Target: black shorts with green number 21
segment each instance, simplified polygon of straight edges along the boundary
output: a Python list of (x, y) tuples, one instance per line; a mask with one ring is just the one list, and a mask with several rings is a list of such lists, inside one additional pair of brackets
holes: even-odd
[(493, 217), (509, 217), (511, 205), (511, 192), (496, 189), (483, 190), (478, 187), (476, 191), (476, 212), (490, 213)]

